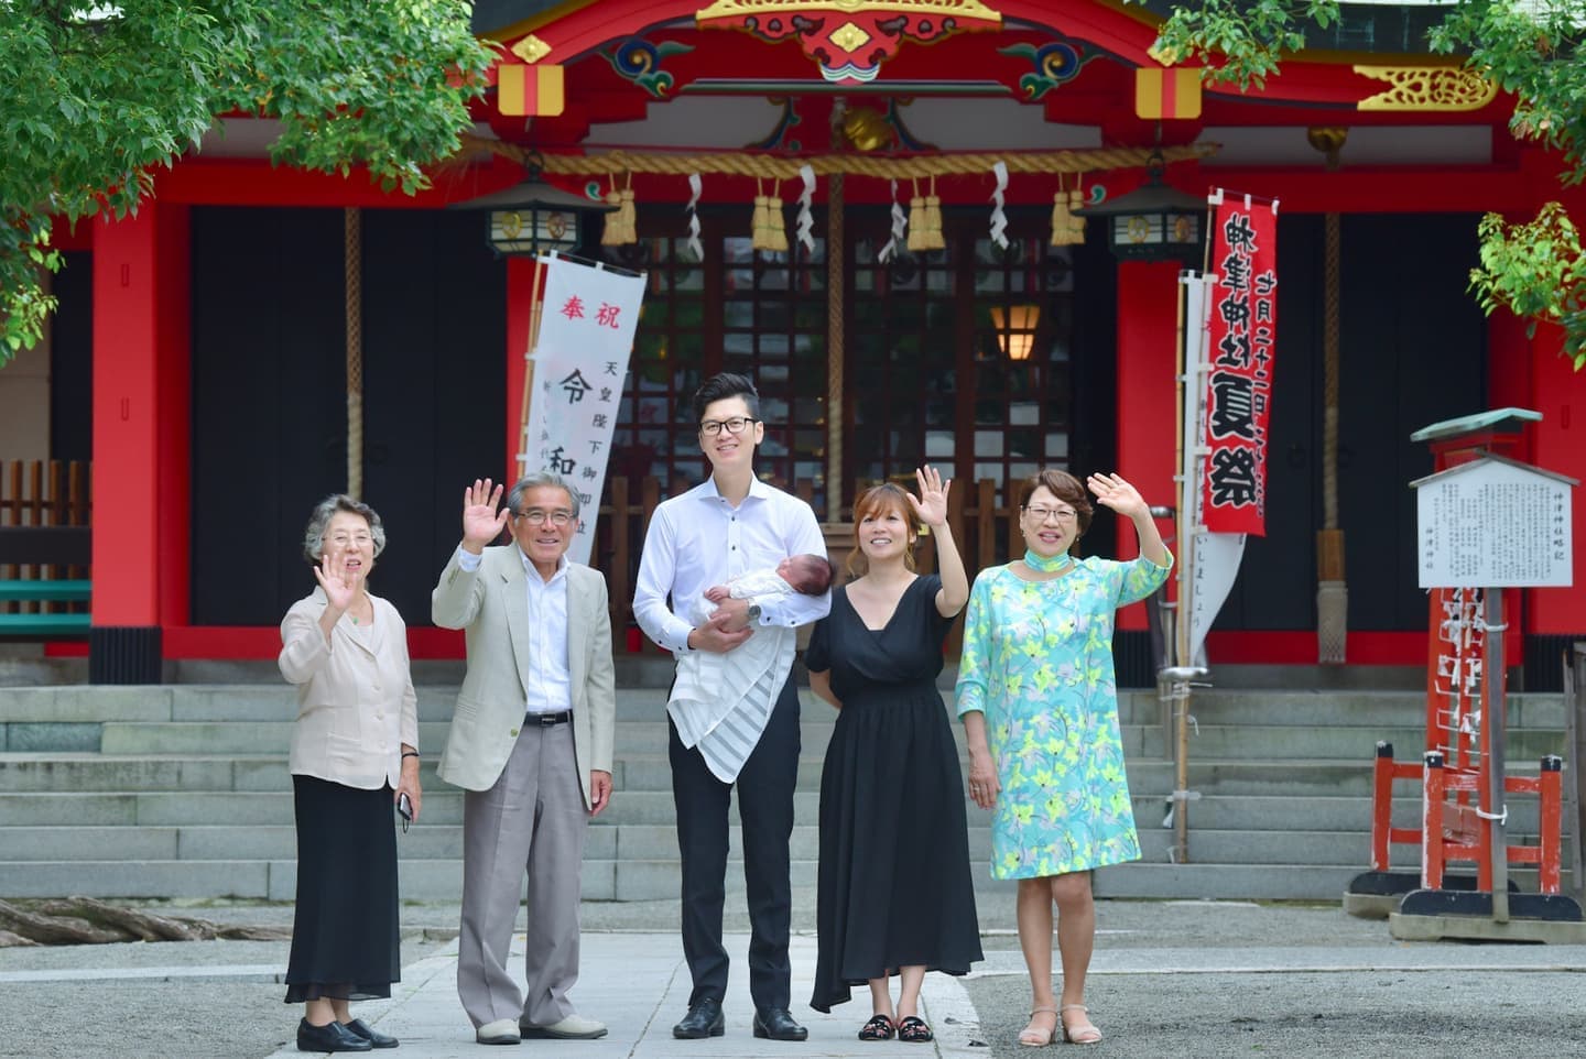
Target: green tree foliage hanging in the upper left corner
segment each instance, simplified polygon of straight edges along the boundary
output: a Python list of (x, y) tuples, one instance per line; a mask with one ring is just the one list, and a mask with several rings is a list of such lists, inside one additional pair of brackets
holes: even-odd
[(412, 193), (454, 154), (492, 52), (465, 0), (0, 0), (0, 365), (54, 300), (57, 217), (122, 217), (216, 119), (279, 122), (276, 163)]

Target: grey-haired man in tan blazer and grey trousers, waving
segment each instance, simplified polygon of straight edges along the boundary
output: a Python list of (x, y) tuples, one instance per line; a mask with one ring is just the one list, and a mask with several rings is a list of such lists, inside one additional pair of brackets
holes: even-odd
[[(484, 1045), (604, 1037), (574, 1011), (579, 869), (611, 802), (615, 691), (606, 579), (566, 558), (579, 499), (554, 474), (463, 490), (463, 541), (430, 612), (465, 629), (468, 672), (439, 777), (465, 788), (457, 992)], [(512, 544), (487, 547), (504, 526)], [(528, 875), (527, 996), (506, 970)]]

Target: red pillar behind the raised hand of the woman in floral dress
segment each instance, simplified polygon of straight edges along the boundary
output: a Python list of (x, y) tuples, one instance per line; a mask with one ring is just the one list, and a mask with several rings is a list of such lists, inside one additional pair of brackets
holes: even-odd
[[(1177, 262), (1118, 265), (1118, 474), (1148, 504), (1178, 504), (1174, 485), (1178, 388)], [(1094, 468), (1102, 469), (1102, 468)], [(1134, 525), (1120, 520), (1118, 558), (1139, 550)], [(1178, 558), (1178, 545), (1174, 545)], [(1120, 629), (1144, 629), (1145, 607), (1118, 614)]]

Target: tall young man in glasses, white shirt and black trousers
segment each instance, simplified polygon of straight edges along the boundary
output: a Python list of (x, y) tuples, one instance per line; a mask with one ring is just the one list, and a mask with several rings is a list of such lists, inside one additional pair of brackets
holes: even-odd
[[(831, 594), (752, 604), (725, 599), (709, 621), (695, 626), (687, 615), (712, 585), (803, 552), (826, 555), (826, 542), (809, 504), (755, 477), (755, 445), (764, 441), (760, 395), (749, 377), (722, 373), (693, 398), (699, 445), (711, 460), (711, 477), (655, 509), (644, 539), (634, 617), (663, 648), (730, 652), (760, 626), (796, 628), (826, 615)], [(668, 602), (669, 601), (669, 602)], [(753, 1034), (772, 1040), (804, 1040), (807, 1030), (788, 1011), (788, 926), (791, 886), (788, 839), (793, 834), (793, 788), (798, 782), (799, 705), (791, 674), (769, 717), (728, 717), (734, 726), (741, 764), (733, 782), (718, 778), (699, 748), (684, 747), (672, 721), (668, 756), (672, 801), (677, 807), (677, 847), (682, 856), (682, 940), (693, 991), (688, 1013), (672, 1035), (720, 1037), (728, 958), (722, 945), (722, 907), (726, 899), (728, 804), (737, 788), (744, 834), (744, 883), (752, 939), (749, 991), (755, 1002)]]

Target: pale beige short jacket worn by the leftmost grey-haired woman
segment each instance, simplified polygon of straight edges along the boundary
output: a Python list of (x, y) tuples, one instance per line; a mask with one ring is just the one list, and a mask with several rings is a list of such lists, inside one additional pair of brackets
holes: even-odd
[(401, 745), (419, 748), (419, 699), (408, 667), (408, 626), (396, 607), (370, 594), (374, 625), (354, 626), (349, 615), (330, 631), (319, 628), (325, 593), (316, 588), (292, 604), (281, 621), (281, 675), (297, 685), (292, 726), (293, 775), (376, 789), (396, 788)]

